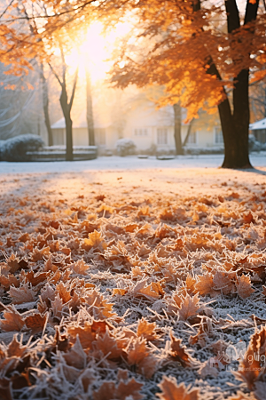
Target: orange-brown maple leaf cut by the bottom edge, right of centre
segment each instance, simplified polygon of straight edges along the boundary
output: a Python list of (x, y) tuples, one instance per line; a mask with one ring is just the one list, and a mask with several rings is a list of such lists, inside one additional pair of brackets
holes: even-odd
[(164, 376), (158, 385), (162, 393), (156, 393), (160, 400), (200, 400), (199, 389), (188, 390), (184, 383), (177, 385), (176, 379)]

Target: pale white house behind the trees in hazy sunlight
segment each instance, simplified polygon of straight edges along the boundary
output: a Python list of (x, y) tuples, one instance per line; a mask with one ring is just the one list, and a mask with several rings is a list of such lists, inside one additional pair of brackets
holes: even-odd
[[(183, 110), (182, 119), (185, 119)], [(96, 144), (101, 149), (115, 148), (116, 140), (129, 138), (133, 140), (138, 150), (149, 148), (174, 149), (174, 110), (168, 106), (156, 109), (152, 101), (145, 101), (137, 107), (129, 107), (121, 116), (121, 124), (117, 116), (112, 121), (112, 113), (106, 117), (100, 112), (94, 115)], [(189, 124), (182, 123), (182, 140), (184, 141)], [(54, 144), (66, 144), (65, 120), (61, 118), (51, 126)], [(86, 112), (73, 117), (74, 146), (88, 146)], [(223, 148), (223, 134), (216, 116), (201, 113), (199, 119), (192, 122), (191, 133), (186, 143), (187, 148)]]

